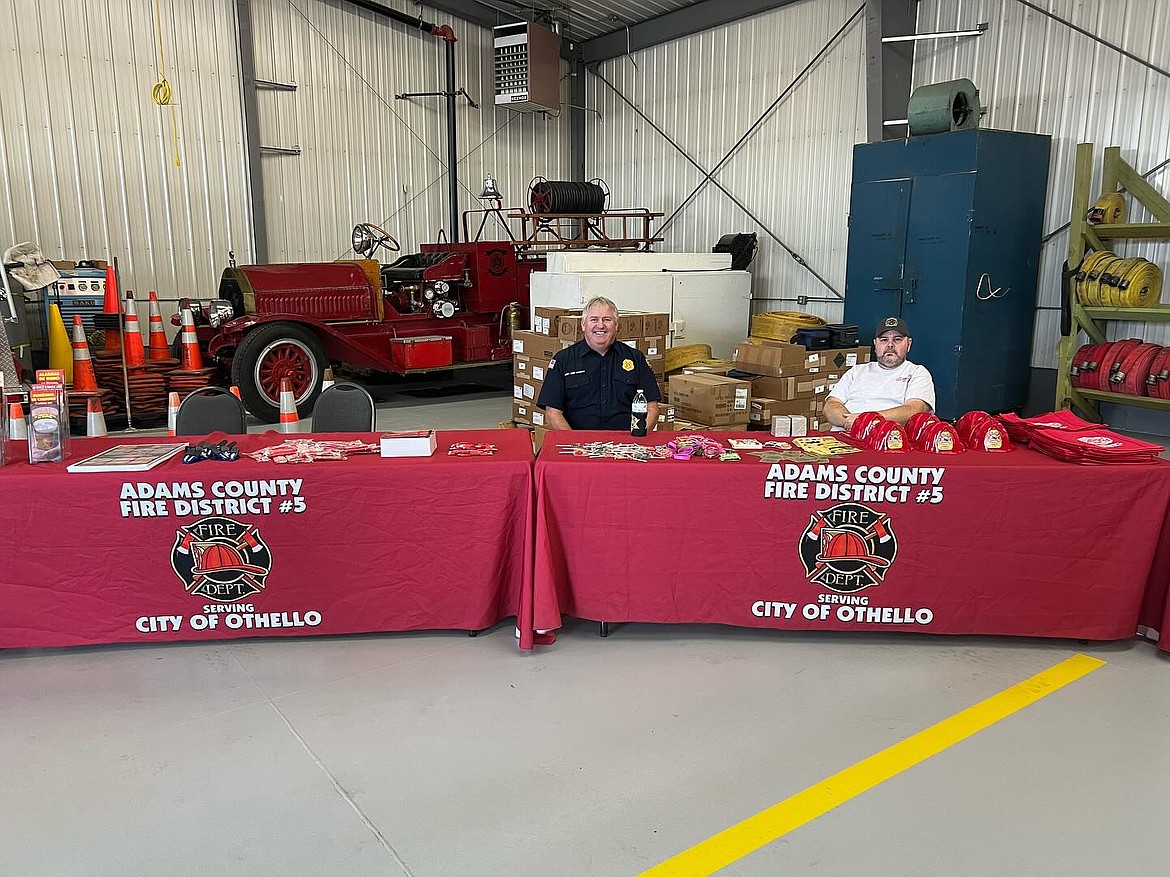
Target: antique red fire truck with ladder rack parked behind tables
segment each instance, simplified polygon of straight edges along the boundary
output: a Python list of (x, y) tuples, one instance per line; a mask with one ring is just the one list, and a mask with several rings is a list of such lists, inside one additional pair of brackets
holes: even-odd
[[(534, 205), (543, 206), (538, 198)], [(468, 241), (468, 217), (493, 213), (505, 227), (519, 219), (521, 236)], [(214, 301), (192, 302), (195, 329), (253, 415), (276, 422), (281, 379), (288, 378), (305, 416), (331, 364), (410, 374), (510, 359), (511, 332), (528, 322), (529, 277), (543, 270), (544, 251), (648, 249), (661, 240), (649, 233), (658, 216), (641, 209), (505, 216), (497, 206), (464, 214), (466, 242), (422, 244), (388, 264), (371, 256), (397, 251), (398, 242), (362, 223), (353, 229), (353, 250), (364, 258), (227, 268)], [(481, 234), (483, 227), (481, 221)]]

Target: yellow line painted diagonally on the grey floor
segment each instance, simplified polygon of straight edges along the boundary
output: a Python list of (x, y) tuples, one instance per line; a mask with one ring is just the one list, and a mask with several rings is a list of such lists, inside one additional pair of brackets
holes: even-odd
[(639, 877), (707, 877), (715, 873), (789, 831), (825, 815), (851, 797), (868, 792), (890, 776), (925, 761), (1103, 665), (1104, 661), (1088, 655), (1074, 655), (1061, 661), (1044, 672), (749, 816), (648, 871), (642, 871)]

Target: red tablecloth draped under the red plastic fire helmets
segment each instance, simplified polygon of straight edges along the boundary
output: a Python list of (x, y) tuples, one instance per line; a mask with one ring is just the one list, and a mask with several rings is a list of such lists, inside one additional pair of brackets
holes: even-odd
[(564, 613), (1114, 640), (1144, 623), (1170, 645), (1170, 464), (1082, 467), (1026, 449), (860, 453), (811, 469), (748, 451), (648, 463), (558, 454), (614, 438), (545, 437), (536, 628)]

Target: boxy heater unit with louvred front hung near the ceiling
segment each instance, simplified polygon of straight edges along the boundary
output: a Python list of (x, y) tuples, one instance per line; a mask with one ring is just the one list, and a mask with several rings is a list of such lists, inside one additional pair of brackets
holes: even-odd
[(560, 37), (519, 22), (495, 28), (496, 105), (519, 112), (560, 109)]

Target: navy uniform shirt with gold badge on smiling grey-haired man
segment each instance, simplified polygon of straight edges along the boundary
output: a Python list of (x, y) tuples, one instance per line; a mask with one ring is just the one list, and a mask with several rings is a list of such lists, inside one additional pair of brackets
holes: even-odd
[(647, 402), (662, 399), (646, 357), (621, 341), (603, 357), (581, 339), (549, 362), (536, 403), (563, 410), (573, 429), (629, 429), (639, 389)]

